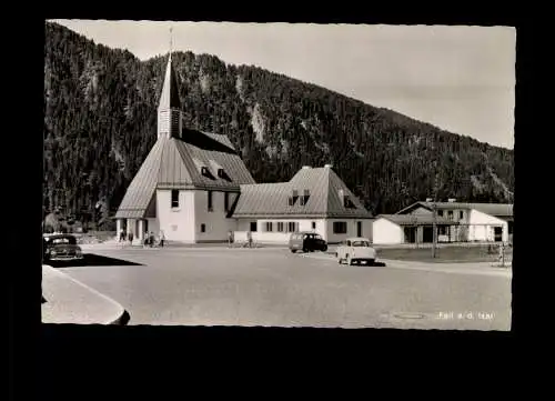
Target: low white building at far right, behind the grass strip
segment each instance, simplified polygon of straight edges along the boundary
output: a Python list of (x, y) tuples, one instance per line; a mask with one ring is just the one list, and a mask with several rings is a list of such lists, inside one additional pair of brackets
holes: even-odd
[[(396, 214), (379, 215), (374, 243), (433, 241), (432, 202), (415, 202)], [(504, 203), (436, 202), (438, 242), (508, 242), (513, 233), (513, 205)]]

